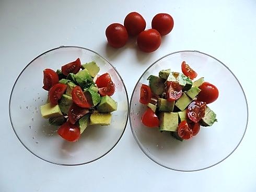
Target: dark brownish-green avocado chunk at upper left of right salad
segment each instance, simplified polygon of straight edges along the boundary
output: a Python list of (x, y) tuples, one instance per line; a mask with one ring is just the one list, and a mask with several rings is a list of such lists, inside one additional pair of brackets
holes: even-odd
[(147, 80), (149, 80), (149, 87), (154, 94), (161, 95), (164, 92), (165, 80), (160, 77), (150, 75)]

